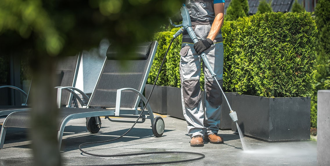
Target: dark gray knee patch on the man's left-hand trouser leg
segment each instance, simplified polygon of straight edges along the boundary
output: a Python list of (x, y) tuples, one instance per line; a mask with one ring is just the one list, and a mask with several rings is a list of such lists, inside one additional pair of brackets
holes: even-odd
[(197, 107), (202, 98), (199, 80), (184, 80), (182, 82), (182, 93), (185, 107)]

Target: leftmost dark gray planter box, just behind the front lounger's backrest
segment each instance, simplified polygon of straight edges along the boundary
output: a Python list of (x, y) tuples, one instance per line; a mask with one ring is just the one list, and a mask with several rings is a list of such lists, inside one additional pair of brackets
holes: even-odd
[[(148, 99), (153, 85), (146, 84), (145, 97)], [(167, 114), (167, 87), (156, 85), (149, 99), (152, 112)]]

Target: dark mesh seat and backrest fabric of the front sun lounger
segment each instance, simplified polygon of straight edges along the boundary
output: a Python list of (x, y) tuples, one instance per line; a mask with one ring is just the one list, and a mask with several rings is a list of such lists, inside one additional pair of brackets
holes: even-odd
[[(148, 49), (155, 47), (156, 41), (149, 42), (146, 47), (141, 49)], [(143, 51), (143, 50), (140, 50)], [(121, 66), (118, 60), (106, 60), (101, 70), (100, 77), (97, 81), (94, 92), (90, 98), (88, 106), (97, 107), (115, 107), (116, 106), (116, 92), (120, 88), (134, 88), (140, 93), (143, 92), (149, 73), (150, 65), (152, 63), (152, 54), (154, 50), (150, 49), (147, 59), (127, 60), (125, 66)], [(63, 66), (64, 73), (68, 68)], [(70, 73), (70, 71), (68, 72)], [(65, 77), (65, 74), (64, 74)], [(135, 93), (123, 92), (121, 99), (121, 107), (135, 108), (138, 103), (138, 95)], [(96, 111), (105, 111), (106, 109), (92, 109), (92, 108), (60, 108), (57, 121), (59, 127), (66, 117), (73, 114), (81, 114)], [(8, 116), (4, 122), (4, 127), (29, 127), (30, 126), (30, 111), (14, 112)], [(103, 115), (107, 116), (107, 115)], [(59, 129), (59, 128), (58, 128)]]

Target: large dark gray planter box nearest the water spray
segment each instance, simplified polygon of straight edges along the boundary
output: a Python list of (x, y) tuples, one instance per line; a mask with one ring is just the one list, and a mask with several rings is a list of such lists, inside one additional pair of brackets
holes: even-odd
[[(267, 141), (310, 139), (310, 97), (232, 96), (245, 135)], [(235, 123), (232, 131), (237, 132)]]

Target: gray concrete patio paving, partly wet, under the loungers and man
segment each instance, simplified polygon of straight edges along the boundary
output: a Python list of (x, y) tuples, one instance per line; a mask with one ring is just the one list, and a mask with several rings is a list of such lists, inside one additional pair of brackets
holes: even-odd
[[(186, 122), (163, 116), (165, 131), (162, 137), (154, 137), (151, 123), (146, 120), (137, 124), (126, 136), (112, 143), (83, 146), (83, 149), (97, 154), (124, 154), (134, 152), (186, 151), (205, 154), (197, 161), (163, 165), (316, 165), (316, 142), (289, 141), (266, 142), (244, 137), (247, 148), (243, 151), (240, 137), (231, 130), (219, 130), (224, 144), (210, 144), (191, 147)], [(4, 119), (0, 119), (0, 124)], [(131, 119), (130, 119), (131, 120)], [(200, 157), (193, 154), (146, 154), (123, 157), (94, 157), (82, 154), (78, 146), (85, 142), (113, 139), (127, 131), (131, 123), (115, 123), (102, 119), (99, 133), (89, 133), (85, 119), (70, 121), (64, 129), (61, 156), (63, 165), (105, 165), (123, 163), (144, 163), (174, 161)], [(33, 165), (28, 130), (9, 128), (4, 149), (0, 150), (0, 165)]]

